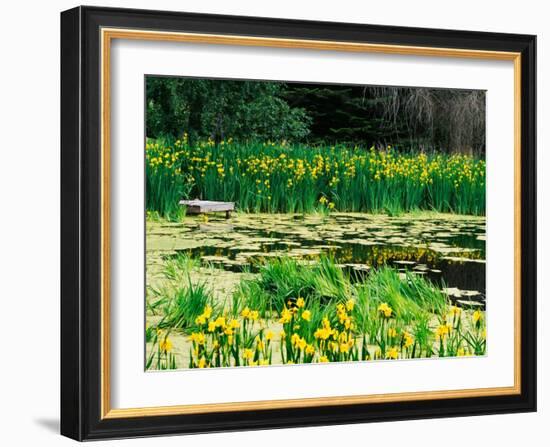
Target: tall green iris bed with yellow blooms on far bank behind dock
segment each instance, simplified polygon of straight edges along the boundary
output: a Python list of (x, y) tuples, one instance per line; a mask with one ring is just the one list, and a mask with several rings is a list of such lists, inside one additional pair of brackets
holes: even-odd
[(485, 162), (467, 155), (186, 140), (149, 141), (147, 209), (182, 195), (245, 212), (485, 213)]

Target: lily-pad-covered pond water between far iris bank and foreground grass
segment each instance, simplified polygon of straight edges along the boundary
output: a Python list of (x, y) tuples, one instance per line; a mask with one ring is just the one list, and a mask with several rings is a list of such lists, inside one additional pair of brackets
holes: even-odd
[(274, 257), (315, 261), (330, 255), (357, 279), (391, 265), (428, 277), (460, 305), (485, 301), (484, 217), (239, 214), (208, 222), (190, 216), (182, 223), (148, 222), (148, 268), (177, 253), (236, 273), (254, 272)]

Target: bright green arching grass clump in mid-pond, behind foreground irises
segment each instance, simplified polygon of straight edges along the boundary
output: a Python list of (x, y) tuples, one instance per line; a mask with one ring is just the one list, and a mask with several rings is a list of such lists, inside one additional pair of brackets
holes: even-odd
[(382, 303), (406, 324), (440, 314), (448, 306), (446, 295), (422, 277), (381, 267), (355, 282), (329, 257), (321, 257), (314, 265), (284, 257), (266, 263), (256, 277), (241, 281), (233, 306), (236, 313), (249, 307), (265, 317), (281, 313), (299, 298), (306, 306), (321, 307), (354, 299), (360, 326)]

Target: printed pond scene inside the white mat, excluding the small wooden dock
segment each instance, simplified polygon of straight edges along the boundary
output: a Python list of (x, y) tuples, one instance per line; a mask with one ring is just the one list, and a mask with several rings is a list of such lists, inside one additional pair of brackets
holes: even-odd
[(417, 90), (148, 80), (146, 369), (485, 354), (484, 96)]

